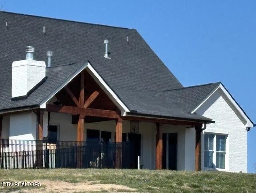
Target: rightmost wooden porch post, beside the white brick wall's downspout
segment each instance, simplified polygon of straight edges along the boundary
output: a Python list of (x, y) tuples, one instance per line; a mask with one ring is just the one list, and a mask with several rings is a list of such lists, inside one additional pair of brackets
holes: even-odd
[(195, 170), (201, 170), (201, 136), (202, 128), (200, 126), (195, 126), (196, 129), (196, 151), (195, 151)]

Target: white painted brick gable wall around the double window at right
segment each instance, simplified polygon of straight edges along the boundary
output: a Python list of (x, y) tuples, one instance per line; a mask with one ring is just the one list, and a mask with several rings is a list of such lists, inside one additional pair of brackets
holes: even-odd
[[(212, 118), (204, 132), (228, 134), (226, 140), (226, 170), (247, 172), (247, 131), (234, 110), (217, 91), (200, 109), (198, 114)], [(244, 120), (243, 120), (244, 121)], [(204, 167), (204, 136), (202, 136), (202, 167)]]

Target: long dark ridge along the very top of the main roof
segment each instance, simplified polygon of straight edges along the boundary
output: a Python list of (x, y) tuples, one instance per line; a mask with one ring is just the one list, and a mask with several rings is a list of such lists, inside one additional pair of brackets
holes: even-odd
[(94, 26), (104, 26), (104, 27), (110, 27), (110, 28), (120, 28), (120, 29), (126, 29), (126, 30), (135, 30), (134, 28), (125, 28), (125, 27), (118, 27), (118, 26), (108, 26), (104, 24), (92, 24), (88, 22), (79, 22), (79, 21), (74, 21), (74, 20), (66, 20), (66, 19), (60, 19), (60, 18), (51, 18), (51, 17), (46, 17), (46, 16), (36, 16), (36, 15), (30, 15), (30, 14), (22, 14), (22, 13), (15, 13), (15, 12), (6, 12), (6, 11), (0, 11), (0, 13), (7, 13), (7, 14), (16, 14), (16, 15), (23, 15), (23, 16), (31, 16), (31, 17), (37, 17), (37, 18), (45, 18), (45, 19), (50, 19), (50, 20), (60, 20), (60, 21), (65, 21), (65, 22), (74, 22), (74, 23), (79, 23), (79, 24), (88, 24), (88, 25), (94, 25)]

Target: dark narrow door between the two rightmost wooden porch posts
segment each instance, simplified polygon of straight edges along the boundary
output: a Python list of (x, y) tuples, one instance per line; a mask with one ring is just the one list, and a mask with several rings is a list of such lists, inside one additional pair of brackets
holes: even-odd
[(177, 170), (177, 133), (168, 134), (168, 169)]

